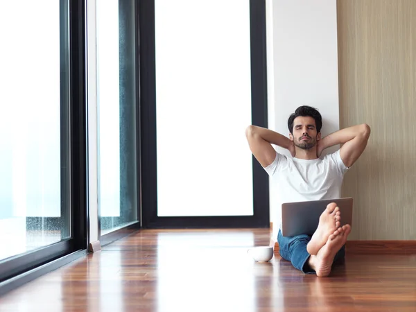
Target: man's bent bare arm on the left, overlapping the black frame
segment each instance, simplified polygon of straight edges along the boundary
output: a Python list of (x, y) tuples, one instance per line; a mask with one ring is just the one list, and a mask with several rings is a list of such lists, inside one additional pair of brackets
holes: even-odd
[(265, 168), (272, 164), (276, 158), (276, 150), (271, 144), (287, 148), (293, 156), (295, 154), (293, 142), (275, 131), (257, 127), (256, 125), (249, 125), (245, 130), (245, 136), (247, 137), (248, 145), (254, 157)]

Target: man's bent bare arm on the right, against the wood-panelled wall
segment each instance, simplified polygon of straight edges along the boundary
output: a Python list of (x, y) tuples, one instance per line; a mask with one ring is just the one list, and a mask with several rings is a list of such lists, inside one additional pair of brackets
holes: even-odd
[(343, 147), (340, 148), (340, 156), (341, 159), (343, 159), (345, 166), (349, 168), (365, 150), (368, 138), (370, 137), (370, 132), (370, 126), (365, 123), (333, 132), (331, 135), (324, 137), (320, 141), (318, 154), (325, 148), (337, 144), (344, 144)]

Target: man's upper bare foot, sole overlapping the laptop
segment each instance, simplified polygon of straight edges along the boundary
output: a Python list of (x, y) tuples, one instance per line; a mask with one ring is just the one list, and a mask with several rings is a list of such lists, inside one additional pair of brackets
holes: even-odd
[(318, 229), (316, 229), (311, 241), (306, 246), (309, 254), (318, 253), (318, 250), (327, 243), (329, 235), (340, 227), (340, 220), (341, 211), (335, 202), (331, 202), (319, 217)]

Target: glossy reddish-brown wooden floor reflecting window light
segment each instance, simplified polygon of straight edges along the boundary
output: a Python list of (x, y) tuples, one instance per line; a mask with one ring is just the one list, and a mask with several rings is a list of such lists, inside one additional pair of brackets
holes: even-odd
[(143, 230), (0, 297), (0, 311), (416, 311), (416, 255), (347, 255), (331, 277), (275, 257), (267, 229)]

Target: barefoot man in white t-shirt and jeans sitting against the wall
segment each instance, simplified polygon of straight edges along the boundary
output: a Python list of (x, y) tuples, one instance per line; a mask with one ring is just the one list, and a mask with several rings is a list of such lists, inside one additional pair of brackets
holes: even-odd
[[(322, 116), (313, 107), (298, 107), (288, 119), (289, 138), (250, 125), (246, 130), (254, 157), (275, 179), (281, 202), (301, 202), (341, 197), (345, 172), (361, 156), (370, 137), (366, 124), (354, 125), (321, 139)], [(272, 144), (287, 148), (293, 158), (276, 152)], [(335, 153), (320, 158), (322, 151), (343, 144)], [(343, 259), (350, 225), (340, 227), (340, 211), (333, 202), (327, 206), (313, 236), (285, 237), (279, 234), (282, 258), (304, 273), (326, 277), (334, 261)]]

